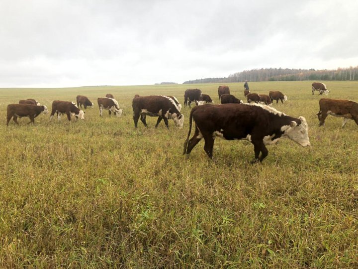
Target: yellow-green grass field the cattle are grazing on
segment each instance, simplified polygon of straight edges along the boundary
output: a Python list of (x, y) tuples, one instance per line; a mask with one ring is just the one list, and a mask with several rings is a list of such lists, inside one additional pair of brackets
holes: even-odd
[[(311, 83), (251, 82), (251, 92), (288, 96), (273, 107), (309, 125), (310, 148), (289, 139), (251, 165), (248, 141), (203, 141), (182, 155), (184, 128), (147, 117), (134, 129), (135, 94), (199, 88), (218, 103), (218, 84), (0, 89), (0, 267), (358, 268), (358, 126), (329, 116), (318, 127)], [(243, 83), (228, 84), (243, 96)], [(330, 98), (358, 101), (358, 82), (326, 82)], [(121, 118), (99, 117), (112, 93)], [(41, 114), (5, 126), (6, 106), (83, 94), (85, 120)]]

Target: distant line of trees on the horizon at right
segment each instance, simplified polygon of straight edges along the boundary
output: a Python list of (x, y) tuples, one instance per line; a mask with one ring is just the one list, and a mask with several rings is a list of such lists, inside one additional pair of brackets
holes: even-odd
[(358, 80), (358, 66), (337, 70), (261, 68), (238, 72), (227, 78), (188, 80), (190, 83), (221, 83), (248, 81), (296, 81), (296, 80)]

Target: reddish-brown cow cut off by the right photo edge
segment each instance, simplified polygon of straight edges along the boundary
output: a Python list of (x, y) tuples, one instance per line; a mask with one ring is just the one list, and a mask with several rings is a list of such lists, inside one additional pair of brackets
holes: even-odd
[(320, 122), (319, 126), (324, 126), (328, 115), (343, 117), (342, 128), (348, 120), (354, 120), (358, 125), (358, 103), (350, 100), (322, 98), (319, 101), (320, 110), (316, 114)]

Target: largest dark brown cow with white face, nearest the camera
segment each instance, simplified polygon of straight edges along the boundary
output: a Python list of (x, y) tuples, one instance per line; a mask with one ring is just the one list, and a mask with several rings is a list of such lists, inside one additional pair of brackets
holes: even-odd
[[(189, 140), (192, 120), (195, 132)], [(189, 154), (204, 138), (205, 153), (212, 158), (216, 136), (227, 140), (249, 140), (255, 151), (252, 163), (263, 161), (269, 153), (266, 145), (274, 144), (279, 138), (288, 137), (304, 147), (310, 145), (308, 125), (303, 117), (292, 118), (269, 106), (257, 104), (205, 105), (190, 112), (183, 154)]]

